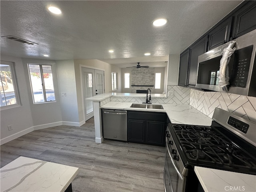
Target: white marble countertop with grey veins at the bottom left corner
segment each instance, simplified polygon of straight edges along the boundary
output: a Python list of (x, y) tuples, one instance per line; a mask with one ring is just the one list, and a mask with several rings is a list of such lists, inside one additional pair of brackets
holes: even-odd
[(64, 192), (78, 168), (20, 156), (0, 172), (1, 192)]

